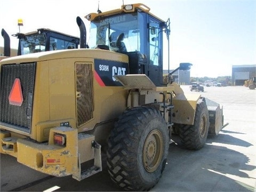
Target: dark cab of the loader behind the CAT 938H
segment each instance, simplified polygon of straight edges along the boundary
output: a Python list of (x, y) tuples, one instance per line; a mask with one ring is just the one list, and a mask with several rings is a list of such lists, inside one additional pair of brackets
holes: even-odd
[(19, 39), (18, 55), (44, 51), (78, 49), (79, 38), (51, 29), (37, 29), (27, 34), (17, 33)]

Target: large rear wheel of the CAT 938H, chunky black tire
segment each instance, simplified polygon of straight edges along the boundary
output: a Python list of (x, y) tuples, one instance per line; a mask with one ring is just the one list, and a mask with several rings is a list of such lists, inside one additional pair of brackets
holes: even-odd
[(126, 110), (111, 130), (107, 166), (124, 190), (147, 191), (162, 176), (169, 149), (167, 125), (158, 110)]

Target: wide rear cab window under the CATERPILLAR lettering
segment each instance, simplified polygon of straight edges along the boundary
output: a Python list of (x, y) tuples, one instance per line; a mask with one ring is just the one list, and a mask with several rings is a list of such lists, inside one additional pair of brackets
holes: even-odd
[(107, 45), (115, 52), (140, 51), (137, 13), (110, 16), (91, 22), (89, 47)]

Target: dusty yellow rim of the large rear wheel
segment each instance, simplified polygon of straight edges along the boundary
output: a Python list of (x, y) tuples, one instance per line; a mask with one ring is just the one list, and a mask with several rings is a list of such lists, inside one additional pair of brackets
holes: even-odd
[(152, 130), (143, 146), (143, 166), (147, 172), (154, 172), (163, 156), (163, 139), (159, 130)]

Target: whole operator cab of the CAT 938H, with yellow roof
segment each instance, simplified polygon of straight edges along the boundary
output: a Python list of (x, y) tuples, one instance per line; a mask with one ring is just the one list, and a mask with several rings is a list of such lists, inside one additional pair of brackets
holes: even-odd
[[(126, 9), (130, 6), (130, 10)], [(149, 13), (143, 4), (123, 5), (111, 13), (91, 13), (90, 48), (129, 56), (129, 74), (146, 74), (163, 86), (163, 31), (166, 23)]]

